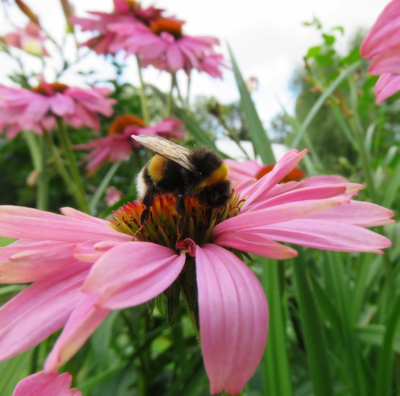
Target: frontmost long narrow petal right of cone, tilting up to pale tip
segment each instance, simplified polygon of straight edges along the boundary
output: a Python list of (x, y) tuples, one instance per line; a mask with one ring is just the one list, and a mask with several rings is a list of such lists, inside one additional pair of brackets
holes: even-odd
[(272, 208), (240, 213), (239, 216), (217, 224), (213, 235), (217, 237), (224, 232), (248, 229), (249, 226), (252, 228), (261, 227), (276, 222), (310, 217), (348, 201), (348, 197), (338, 196), (327, 199), (290, 202), (273, 206)]

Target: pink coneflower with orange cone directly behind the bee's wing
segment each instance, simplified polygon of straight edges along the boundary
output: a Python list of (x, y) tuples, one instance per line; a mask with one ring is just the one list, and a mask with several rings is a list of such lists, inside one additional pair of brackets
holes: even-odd
[(123, 160), (132, 154), (133, 147), (140, 147), (140, 144), (130, 137), (132, 134), (149, 133), (170, 140), (180, 140), (187, 134), (187, 131), (181, 129), (182, 125), (177, 119), (166, 118), (154, 126), (146, 127), (141, 118), (124, 114), (113, 121), (106, 137), (76, 144), (74, 148), (92, 150), (83, 158), (83, 161), (88, 161), (88, 175), (92, 175), (103, 163)]

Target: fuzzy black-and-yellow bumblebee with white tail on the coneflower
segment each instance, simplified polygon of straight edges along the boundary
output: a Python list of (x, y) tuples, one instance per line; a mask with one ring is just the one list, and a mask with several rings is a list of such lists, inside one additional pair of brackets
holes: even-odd
[(156, 155), (142, 168), (136, 179), (138, 199), (146, 209), (141, 225), (148, 219), (158, 194), (171, 193), (177, 198), (176, 210), (185, 214), (185, 197), (195, 197), (201, 206), (226, 205), (231, 196), (228, 167), (205, 146), (187, 149), (163, 137), (140, 134), (132, 138)]

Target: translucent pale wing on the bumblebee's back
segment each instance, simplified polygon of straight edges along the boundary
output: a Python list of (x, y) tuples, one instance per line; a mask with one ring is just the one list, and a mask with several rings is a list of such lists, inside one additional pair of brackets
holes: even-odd
[(139, 142), (149, 150), (154, 151), (161, 157), (167, 158), (176, 162), (190, 172), (195, 172), (196, 169), (189, 161), (191, 151), (179, 144), (173, 143), (170, 140), (164, 139), (161, 136), (142, 133), (140, 135), (132, 135), (132, 138)]

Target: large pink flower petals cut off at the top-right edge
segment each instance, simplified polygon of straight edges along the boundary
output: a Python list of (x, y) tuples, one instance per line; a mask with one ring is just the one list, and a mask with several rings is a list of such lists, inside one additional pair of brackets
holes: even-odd
[(368, 71), (381, 75), (375, 85), (376, 103), (400, 90), (400, 0), (392, 0), (381, 12), (360, 47), (372, 61)]

